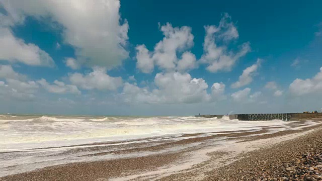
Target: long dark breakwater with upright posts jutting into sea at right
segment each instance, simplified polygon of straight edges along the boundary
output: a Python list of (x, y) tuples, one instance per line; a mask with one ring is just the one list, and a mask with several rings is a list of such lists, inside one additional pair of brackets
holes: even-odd
[(322, 118), (322, 113), (276, 113), (276, 114), (234, 114), (234, 115), (196, 115), (203, 118), (218, 118), (228, 116), (229, 119), (238, 119), (240, 121), (268, 121), (279, 119), (291, 121), (297, 119)]

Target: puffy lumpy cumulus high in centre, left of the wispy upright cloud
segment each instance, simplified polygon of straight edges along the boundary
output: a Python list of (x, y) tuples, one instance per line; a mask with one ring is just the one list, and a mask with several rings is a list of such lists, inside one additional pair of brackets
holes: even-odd
[[(144, 73), (152, 72), (155, 65), (163, 70), (184, 71), (194, 68), (195, 55), (185, 52), (194, 44), (191, 28), (187, 26), (173, 28), (167, 23), (160, 27), (160, 31), (165, 37), (154, 46), (153, 51), (149, 52), (145, 45), (136, 46), (136, 67)], [(180, 60), (177, 54), (182, 54)]]

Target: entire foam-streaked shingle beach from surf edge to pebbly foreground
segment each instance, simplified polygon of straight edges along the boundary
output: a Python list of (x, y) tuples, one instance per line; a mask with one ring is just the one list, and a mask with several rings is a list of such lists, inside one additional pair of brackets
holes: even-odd
[[(149, 137), (1, 152), (4, 162), (13, 156), (30, 156), (44, 164), (32, 163), (29, 170), (21, 169), (27, 167), (24, 164), (2, 166), (0, 180), (309, 180), (306, 174), (319, 180), (321, 167), (315, 166), (321, 165), (321, 130), (322, 120), (312, 119), (171, 139)], [(35, 151), (38, 156), (29, 155)], [(304, 154), (315, 155), (316, 160), (307, 162)], [(77, 160), (70, 159), (75, 155)], [(57, 162), (54, 156), (62, 160)], [(64, 159), (66, 163), (59, 164)], [(313, 171), (305, 172), (310, 167)]]

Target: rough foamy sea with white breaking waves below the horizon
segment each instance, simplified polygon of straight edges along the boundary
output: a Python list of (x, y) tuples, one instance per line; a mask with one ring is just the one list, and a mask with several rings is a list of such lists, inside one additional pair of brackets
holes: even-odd
[(187, 133), (211, 133), (283, 125), (280, 120), (238, 121), (228, 117), (126, 117), (0, 115), (0, 151), (123, 141)]

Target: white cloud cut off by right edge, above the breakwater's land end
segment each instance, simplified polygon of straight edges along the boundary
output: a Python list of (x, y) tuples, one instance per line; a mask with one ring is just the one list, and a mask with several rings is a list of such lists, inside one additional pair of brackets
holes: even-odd
[(290, 92), (295, 96), (303, 96), (311, 93), (322, 93), (322, 67), (311, 79), (296, 78), (289, 86)]

